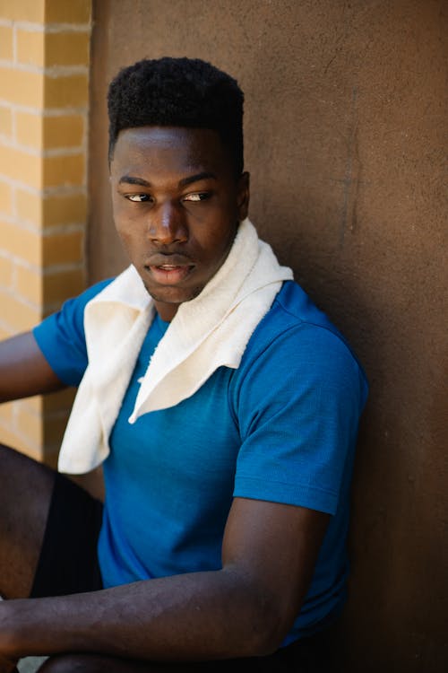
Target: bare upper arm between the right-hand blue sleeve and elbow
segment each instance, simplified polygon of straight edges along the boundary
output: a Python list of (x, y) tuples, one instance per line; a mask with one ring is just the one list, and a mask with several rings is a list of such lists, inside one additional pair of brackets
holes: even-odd
[(283, 503), (235, 498), (228, 515), (224, 569), (246, 573), (271, 603), (286, 632), (308, 590), (330, 516)]

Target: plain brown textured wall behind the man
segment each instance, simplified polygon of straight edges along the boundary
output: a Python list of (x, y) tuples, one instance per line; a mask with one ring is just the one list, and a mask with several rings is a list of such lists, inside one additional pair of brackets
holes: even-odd
[(448, 667), (444, 7), (94, 3), (90, 281), (125, 265), (108, 203), (108, 79), (142, 57), (206, 58), (246, 92), (254, 223), (366, 366), (337, 646), (347, 671)]

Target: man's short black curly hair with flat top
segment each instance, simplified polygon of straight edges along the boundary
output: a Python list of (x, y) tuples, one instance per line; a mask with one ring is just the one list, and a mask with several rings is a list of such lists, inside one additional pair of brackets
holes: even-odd
[(237, 81), (200, 58), (145, 58), (109, 84), (109, 161), (125, 128), (210, 128), (228, 148), (238, 177), (244, 167), (243, 104)]

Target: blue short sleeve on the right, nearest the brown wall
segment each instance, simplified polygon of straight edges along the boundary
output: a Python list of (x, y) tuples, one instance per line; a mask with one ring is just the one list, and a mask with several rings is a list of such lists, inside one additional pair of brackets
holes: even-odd
[(241, 372), (234, 495), (334, 514), (365, 401), (364, 373), (331, 330), (273, 339)]

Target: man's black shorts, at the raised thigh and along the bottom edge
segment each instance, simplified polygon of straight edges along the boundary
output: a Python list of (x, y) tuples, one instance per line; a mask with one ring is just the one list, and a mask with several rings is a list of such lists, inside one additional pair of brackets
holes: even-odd
[[(103, 505), (80, 486), (56, 474), (47, 527), (30, 596), (64, 596), (102, 589), (97, 555)], [(320, 673), (331, 669), (328, 633), (304, 638), (267, 657), (203, 662), (181, 667), (224, 673), (241, 665), (246, 673)], [(142, 670), (145, 670), (142, 664)], [(176, 670), (174, 667), (173, 670)], [(151, 669), (150, 669), (151, 670)]]

